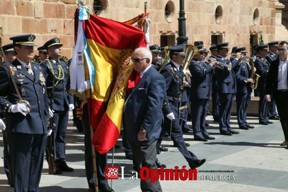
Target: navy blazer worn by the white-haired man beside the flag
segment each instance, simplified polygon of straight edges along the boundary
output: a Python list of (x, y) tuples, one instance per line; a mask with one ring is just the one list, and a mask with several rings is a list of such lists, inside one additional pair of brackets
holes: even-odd
[(141, 127), (147, 131), (147, 141), (158, 139), (164, 120), (162, 103), (165, 94), (164, 77), (151, 66), (134, 87), (124, 105), (124, 129), (130, 142), (139, 142)]

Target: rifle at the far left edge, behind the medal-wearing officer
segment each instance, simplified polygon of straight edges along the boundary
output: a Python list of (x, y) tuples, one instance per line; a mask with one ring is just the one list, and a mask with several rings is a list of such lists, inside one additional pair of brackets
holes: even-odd
[[(5, 117), (5, 112), (2, 112), (2, 120), (4, 124), (6, 125), (6, 117)], [(13, 172), (12, 172), (12, 165), (11, 165), (11, 159), (10, 159), (10, 149), (9, 149), (9, 144), (8, 144), (8, 133), (6, 130), (2, 130), (3, 134), (3, 143), (4, 143), (4, 159), (8, 165), (9, 169), (9, 184), (11, 187), (14, 187), (14, 177), (13, 177)]]

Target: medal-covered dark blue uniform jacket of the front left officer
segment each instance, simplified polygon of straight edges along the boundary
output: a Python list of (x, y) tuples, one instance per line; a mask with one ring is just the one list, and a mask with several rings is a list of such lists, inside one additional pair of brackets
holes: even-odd
[[(2, 110), (8, 111), (11, 105), (19, 101), (8, 71), (13, 68), (14, 79), (20, 95), (23, 100), (27, 100), (31, 105), (31, 111), (26, 116), (21, 113), (7, 113), (6, 127), (8, 132), (29, 134), (47, 133), (49, 105), (46, 86), (41, 84), (45, 79), (41, 78), (43, 71), (39, 63), (31, 62), (31, 67), (34, 80), (28, 74), (27, 69), (17, 59), (12, 63), (4, 64), (0, 67), (0, 105)], [(7, 99), (2, 95), (7, 95)]]

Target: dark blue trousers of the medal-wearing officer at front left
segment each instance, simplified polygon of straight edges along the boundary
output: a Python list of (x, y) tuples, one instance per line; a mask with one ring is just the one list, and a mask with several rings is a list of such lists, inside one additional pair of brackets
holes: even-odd
[(46, 140), (45, 134), (8, 133), (14, 191), (39, 191)]

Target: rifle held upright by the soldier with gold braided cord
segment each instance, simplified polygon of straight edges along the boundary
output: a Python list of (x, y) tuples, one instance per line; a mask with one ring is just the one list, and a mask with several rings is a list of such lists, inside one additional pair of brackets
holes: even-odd
[[(53, 110), (53, 103), (54, 103), (54, 83), (55, 83), (55, 76), (53, 76), (52, 81), (52, 92), (51, 99), (50, 99), (50, 109)], [(53, 117), (49, 119), (49, 129), (48, 132), (52, 130), (51, 134), (47, 138), (47, 151), (48, 151), (48, 174), (49, 175), (55, 175), (56, 167), (54, 162), (54, 131), (53, 128), (55, 127), (55, 123), (53, 122)]]

